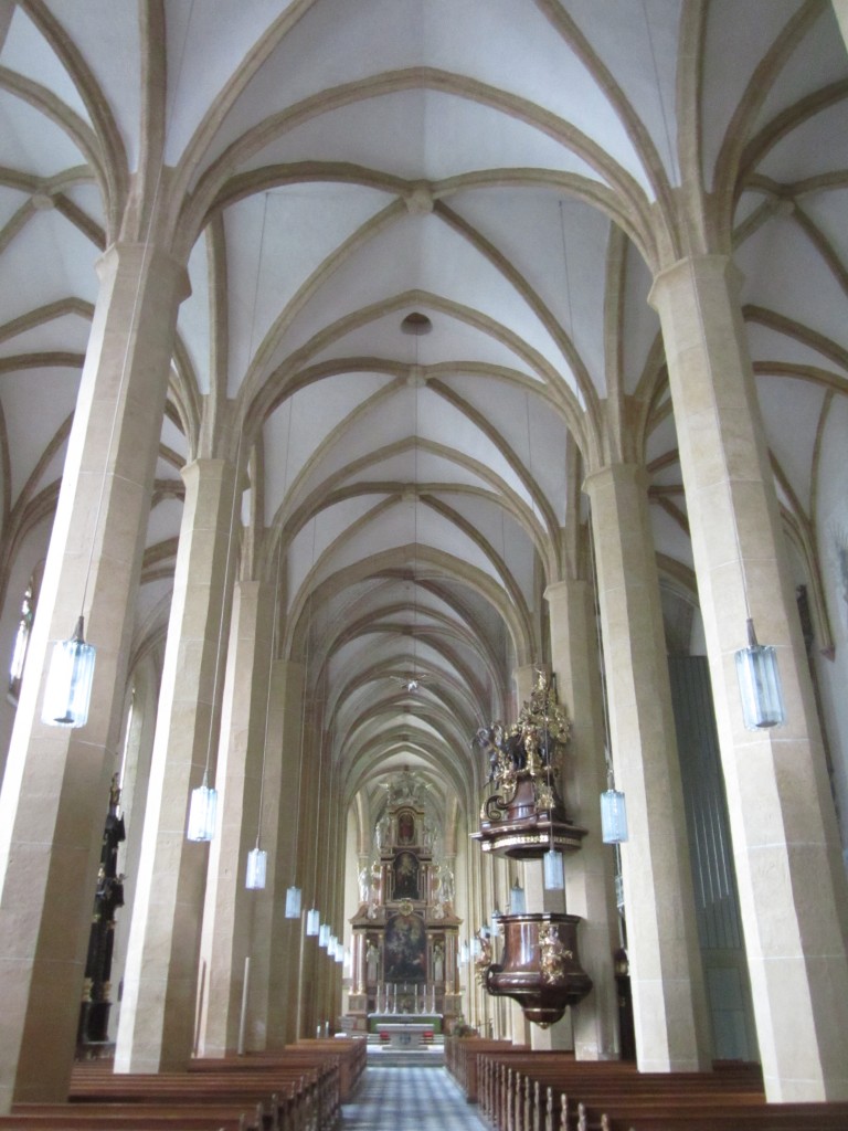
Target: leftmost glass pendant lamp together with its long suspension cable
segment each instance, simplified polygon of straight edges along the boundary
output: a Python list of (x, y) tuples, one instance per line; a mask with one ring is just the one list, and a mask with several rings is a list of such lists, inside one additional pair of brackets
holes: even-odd
[[(178, 105), (176, 94), (180, 89), (180, 79), (182, 76), (183, 62), (185, 60), (185, 48), (189, 42), (189, 29), (191, 26), (191, 16), (193, 10), (194, 0), (191, 0), (189, 18), (185, 24), (185, 37), (180, 52), (180, 62), (176, 68), (176, 78), (174, 80), (174, 101), (171, 107), (171, 118), (165, 126), (164, 137), (167, 137), (168, 127), (173, 120), (173, 114)], [(138, 270), (136, 294), (132, 300), (132, 309), (130, 311), (130, 320), (127, 328), (127, 339), (123, 347), (123, 357), (121, 360), (121, 375), (119, 378), (118, 390), (115, 392), (115, 404), (109, 431), (109, 442), (106, 444), (103, 477), (101, 480), (101, 487), (97, 497), (97, 508), (94, 512), (94, 526), (92, 527), (88, 563), (86, 566), (85, 581), (83, 582), (83, 596), (79, 603), (79, 616), (77, 618), (77, 623), (69, 639), (57, 640), (54, 644), (53, 653), (50, 658), (50, 667), (47, 668), (47, 679), (44, 684), (41, 720), (42, 723), (46, 723), (47, 726), (78, 728), (85, 726), (88, 722), (88, 708), (92, 702), (92, 688), (94, 683), (94, 662), (96, 648), (94, 645), (87, 644), (85, 639), (85, 608), (88, 597), (88, 584), (92, 577), (92, 567), (94, 564), (94, 547), (97, 542), (97, 529), (99, 527), (101, 515), (103, 512), (106, 478), (109, 477), (112, 449), (114, 447), (115, 432), (118, 430), (118, 417), (129, 372), (130, 348), (136, 339), (136, 325), (138, 322), (141, 305), (141, 285), (146, 277), (150, 260), (153, 226), (156, 219), (156, 209), (159, 202), (163, 169), (164, 161), (159, 161), (159, 166), (156, 173), (156, 183), (154, 184), (153, 196), (150, 197), (150, 208), (147, 216), (147, 227), (141, 248), (141, 264)]]

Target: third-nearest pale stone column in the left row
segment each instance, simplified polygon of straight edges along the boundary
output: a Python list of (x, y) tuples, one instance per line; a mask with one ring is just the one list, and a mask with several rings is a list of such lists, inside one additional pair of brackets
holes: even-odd
[[(260, 581), (237, 582), (216, 772), (218, 835), (209, 846), (200, 940), (200, 962), (206, 972), (198, 1037), (201, 1056), (224, 1056), (239, 1047), (246, 958), (245, 1048), (261, 1050), (266, 1043), (277, 853), (276, 837), (269, 838), (259, 803), (261, 796), (263, 810), (270, 805), (276, 810), (279, 791), (279, 751), (265, 745), (272, 621), (271, 588)], [(266, 888), (248, 891), (248, 853), (256, 847), (258, 835), (260, 847), (268, 853)]]

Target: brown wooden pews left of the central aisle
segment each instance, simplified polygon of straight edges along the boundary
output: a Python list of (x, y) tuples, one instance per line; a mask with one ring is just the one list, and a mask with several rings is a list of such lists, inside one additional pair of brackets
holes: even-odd
[(365, 1070), (364, 1039), (192, 1060), (183, 1072), (73, 1065), (68, 1102), (16, 1104), (0, 1131), (332, 1131)]

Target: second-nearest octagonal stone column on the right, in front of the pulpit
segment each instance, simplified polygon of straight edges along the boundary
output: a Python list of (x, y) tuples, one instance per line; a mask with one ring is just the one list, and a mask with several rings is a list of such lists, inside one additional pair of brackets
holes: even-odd
[(647, 476), (616, 464), (591, 500), (616, 786), (626, 795), (625, 914), (641, 1071), (710, 1064)]

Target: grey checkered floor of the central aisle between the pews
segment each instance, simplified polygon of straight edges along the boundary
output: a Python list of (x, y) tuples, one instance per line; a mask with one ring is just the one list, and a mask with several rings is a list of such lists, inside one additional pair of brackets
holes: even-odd
[(343, 1107), (344, 1131), (482, 1131), (487, 1124), (443, 1068), (369, 1064), (354, 1102)]

